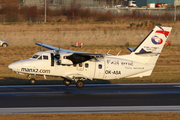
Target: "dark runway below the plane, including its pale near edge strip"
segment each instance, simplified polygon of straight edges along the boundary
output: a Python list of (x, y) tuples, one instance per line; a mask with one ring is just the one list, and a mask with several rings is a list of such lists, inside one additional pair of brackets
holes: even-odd
[(0, 114), (180, 112), (180, 84), (0, 86)]

